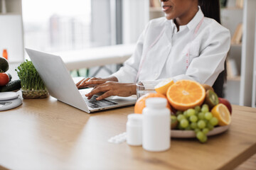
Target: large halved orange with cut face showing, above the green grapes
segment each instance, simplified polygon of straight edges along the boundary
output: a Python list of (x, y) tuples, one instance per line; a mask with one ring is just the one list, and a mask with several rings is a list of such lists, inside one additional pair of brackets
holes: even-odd
[(201, 106), (206, 90), (196, 81), (179, 80), (169, 87), (166, 97), (178, 111), (186, 111), (188, 108)]

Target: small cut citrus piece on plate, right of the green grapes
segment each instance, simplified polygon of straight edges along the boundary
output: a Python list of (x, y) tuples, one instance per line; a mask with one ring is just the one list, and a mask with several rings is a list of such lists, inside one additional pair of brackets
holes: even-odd
[(230, 111), (228, 111), (227, 106), (220, 103), (210, 111), (214, 117), (218, 119), (218, 125), (229, 125), (231, 122)]

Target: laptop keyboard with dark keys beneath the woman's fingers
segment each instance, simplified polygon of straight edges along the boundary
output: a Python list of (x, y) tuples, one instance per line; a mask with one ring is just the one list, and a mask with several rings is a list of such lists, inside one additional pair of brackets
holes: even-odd
[(90, 108), (102, 108), (102, 107), (106, 107), (106, 106), (113, 106), (113, 105), (117, 105), (117, 103), (115, 103), (114, 101), (109, 101), (107, 99), (102, 99), (100, 101), (97, 101), (96, 98), (98, 96), (92, 96), (92, 98), (90, 98), (90, 100), (88, 100), (85, 97), (82, 97), (85, 101), (85, 103), (87, 104), (87, 106), (89, 106)]

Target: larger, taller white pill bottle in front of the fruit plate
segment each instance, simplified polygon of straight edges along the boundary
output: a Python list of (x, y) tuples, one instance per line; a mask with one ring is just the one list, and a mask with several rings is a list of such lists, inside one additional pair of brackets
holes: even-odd
[(162, 152), (170, 148), (170, 110), (165, 98), (146, 99), (143, 109), (142, 147), (150, 152)]

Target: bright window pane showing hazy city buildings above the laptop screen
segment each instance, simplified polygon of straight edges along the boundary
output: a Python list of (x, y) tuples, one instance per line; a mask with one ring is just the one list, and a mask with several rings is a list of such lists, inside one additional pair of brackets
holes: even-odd
[(90, 47), (91, 0), (23, 0), (25, 47), (46, 52)]

